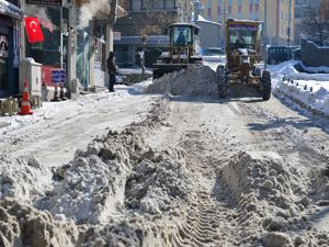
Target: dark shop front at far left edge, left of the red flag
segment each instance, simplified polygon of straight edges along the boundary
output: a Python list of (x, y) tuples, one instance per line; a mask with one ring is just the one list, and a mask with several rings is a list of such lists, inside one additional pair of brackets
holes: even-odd
[(0, 0), (0, 97), (19, 91), (20, 21), (22, 11)]

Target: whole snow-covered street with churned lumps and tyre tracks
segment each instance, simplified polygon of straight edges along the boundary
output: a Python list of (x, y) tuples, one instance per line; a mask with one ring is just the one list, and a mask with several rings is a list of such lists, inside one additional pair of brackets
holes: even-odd
[(269, 101), (208, 68), (1, 117), (0, 246), (328, 246), (329, 121), (285, 67)]

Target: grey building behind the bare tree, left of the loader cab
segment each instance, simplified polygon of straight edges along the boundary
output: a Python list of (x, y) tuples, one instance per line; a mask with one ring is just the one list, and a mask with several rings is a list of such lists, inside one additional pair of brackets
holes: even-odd
[(116, 59), (140, 64), (140, 52), (145, 50), (146, 67), (151, 67), (168, 47), (164, 29), (171, 23), (191, 22), (192, 19), (189, 0), (124, 0), (122, 5), (128, 14), (114, 25)]

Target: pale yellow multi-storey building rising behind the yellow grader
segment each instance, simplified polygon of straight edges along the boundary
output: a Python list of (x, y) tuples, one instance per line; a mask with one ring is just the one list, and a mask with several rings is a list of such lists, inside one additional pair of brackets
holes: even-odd
[[(225, 23), (229, 18), (265, 20), (268, 44), (294, 43), (295, 0), (201, 0), (201, 2), (204, 18), (211, 21)], [(225, 34), (225, 25), (222, 27)]]

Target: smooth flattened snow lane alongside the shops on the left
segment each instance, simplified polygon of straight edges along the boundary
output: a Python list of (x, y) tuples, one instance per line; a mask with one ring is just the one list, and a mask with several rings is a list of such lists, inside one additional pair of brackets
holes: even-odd
[(101, 92), (76, 101), (44, 102), (34, 115), (2, 117), (2, 154), (34, 155), (45, 166), (68, 162), (77, 148), (83, 148), (109, 128), (122, 131), (140, 119), (150, 97), (129, 96), (118, 88), (114, 94)]

